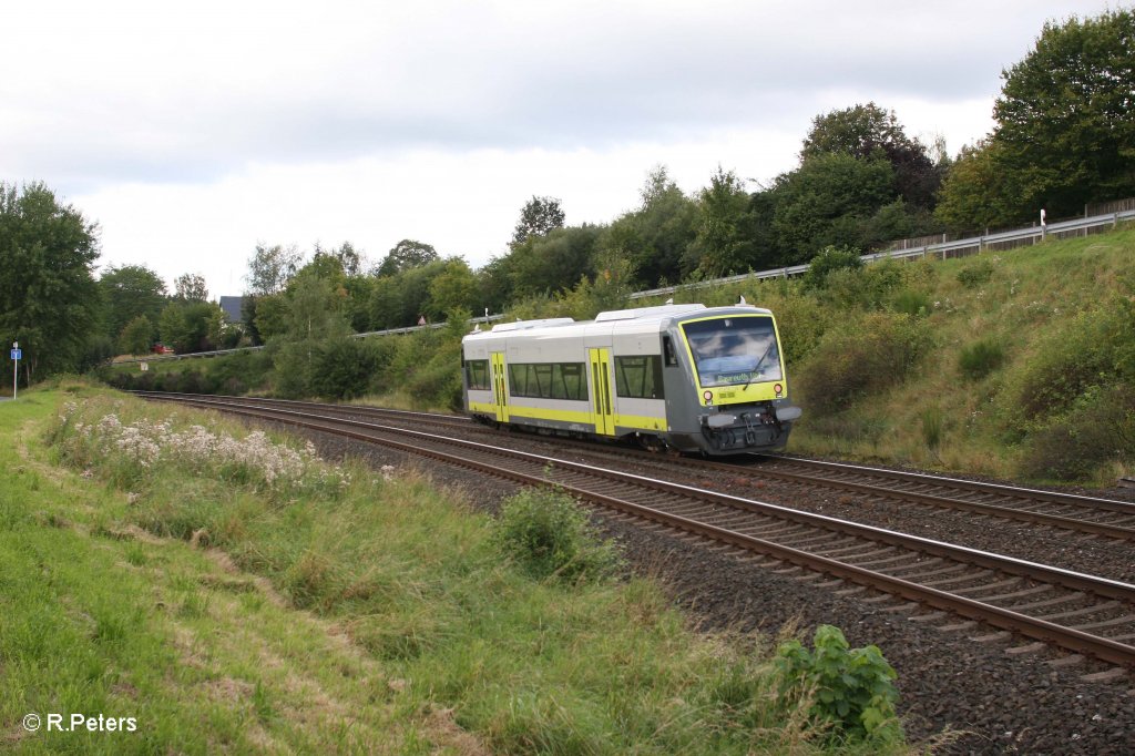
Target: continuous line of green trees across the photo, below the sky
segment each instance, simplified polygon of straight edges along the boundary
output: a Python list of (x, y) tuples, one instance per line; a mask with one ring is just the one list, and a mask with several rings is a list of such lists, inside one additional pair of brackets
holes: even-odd
[(577, 226), (565, 225), (560, 200), (532, 196), (505, 250), (477, 270), (418, 240), (373, 264), (351, 243), (306, 254), (258, 244), (241, 329), (208, 302), (199, 276), (182, 276), (173, 293), (140, 266), (95, 278), (96, 225), (42, 184), (0, 184), (0, 337), (35, 355), (28, 376), (158, 339), (179, 352), (277, 342), (311, 354), (317, 339), (351, 331), (506, 308), (538, 314), (549, 301), (590, 317), (634, 289), (1027, 224), (1041, 209), (1076, 215), (1135, 195), (1133, 44), (1129, 9), (1045, 24), (1034, 49), (1002, 72), (992, 133), (953, 158), (868, 102), (816, 116), (797, 167), (767, 185), (718, 167), (687, 194), (658, 166), (634, 209)]

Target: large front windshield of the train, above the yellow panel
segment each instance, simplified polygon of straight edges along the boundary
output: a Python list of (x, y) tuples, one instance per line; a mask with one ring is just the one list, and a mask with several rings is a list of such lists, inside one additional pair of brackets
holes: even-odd
[(773, 319), (741, 316), (682, 325), (703, 388), (780, 380)]

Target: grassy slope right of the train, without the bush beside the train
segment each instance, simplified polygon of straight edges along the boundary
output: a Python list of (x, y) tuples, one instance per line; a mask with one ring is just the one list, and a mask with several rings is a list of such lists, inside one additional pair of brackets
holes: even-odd
[[(1133, 253), (1135, 230), (1121, 229), (925, 266), (934, 347), (903, 380), (881, 376), (840, 408), (798, 393), (805, 415), (791, 451), (1042, 482), (1108, 486), (1132, 474), (1135, 435), (1117, 396), (1133, 377), (1124, 344), (1135, 343), (1135, 326), (1124, 334), (1110, 313), (1135, 294)], [(902, 272), (923, 267), (906, 263)], [(777, 310), (775, 296), (749, 299)], [(810, 337), (817, 346), (789, 366), (790, 386), (826, 375), (838, 363), (823, 348), (829, 333), (868, 324), (865, 312), (830, 313)], [(793, 337), (791, 322), (781, 328)], [(1043, 411), (1023, 418), (1039, 400)], [(1061, 440), (1069, 437), (1070, 446)], [(1073, 447), (1074, 463), (1060, 464), (1060, 450)]]

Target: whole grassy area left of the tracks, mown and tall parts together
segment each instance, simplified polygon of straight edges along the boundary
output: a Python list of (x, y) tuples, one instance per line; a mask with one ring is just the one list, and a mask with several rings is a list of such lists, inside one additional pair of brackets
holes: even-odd
[(690, 632), (650, 581), (535, 580), (419, 473), (171, 412), (66, 381), (0, 404), (6, 749), (832, 748), (773, 696), (765, 642)]

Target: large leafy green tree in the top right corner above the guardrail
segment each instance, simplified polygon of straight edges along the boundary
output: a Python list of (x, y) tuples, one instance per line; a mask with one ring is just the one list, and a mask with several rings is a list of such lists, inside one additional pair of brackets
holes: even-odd
[(1081, 212), (1135, 194), (1135, 10), (1044, 25), (1001, 73), (993, 133), (964, 151), (938, 217), (957, 230)]

